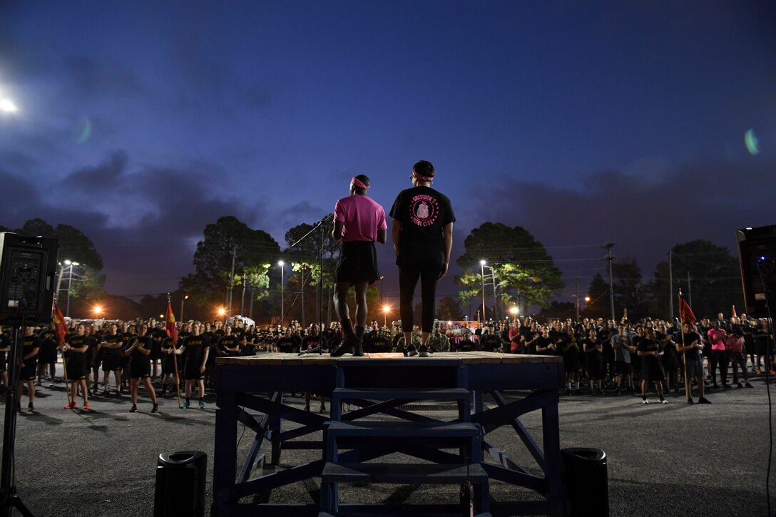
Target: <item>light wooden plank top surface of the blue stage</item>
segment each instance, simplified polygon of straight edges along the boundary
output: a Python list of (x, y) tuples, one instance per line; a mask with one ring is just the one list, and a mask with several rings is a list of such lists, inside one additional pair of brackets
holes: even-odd
[(296, 353), (268, 352), (258, 356), (244, 357), (219, 357), (216, 364), (244, 365), (244, 366), (268, 366), (268, 365), (309, 365), (329, 366), (336, 365), (339, 361), (362, 361), (363, 359), (402, 359), (406, 361), (424, 361), (432, 359), (453, 359), (463, 364), (526, 364), (526, 363), (563, 363), (561, 356), (528, 356), (523, 354), (503, 354), (499, 352), (434, 352), (431, 357), (404, 357), (401, 352), (369, 353), (363, 357), (350, 355), (331, 357), (328, 353), (319, 355), (316, 353), (299, 356)]

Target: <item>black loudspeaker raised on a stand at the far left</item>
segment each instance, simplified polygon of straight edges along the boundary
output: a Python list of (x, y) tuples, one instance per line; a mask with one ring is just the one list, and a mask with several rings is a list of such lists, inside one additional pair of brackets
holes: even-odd
[(0, 323), (49, 324), (59, 241), (0, 232), (0, 250)]

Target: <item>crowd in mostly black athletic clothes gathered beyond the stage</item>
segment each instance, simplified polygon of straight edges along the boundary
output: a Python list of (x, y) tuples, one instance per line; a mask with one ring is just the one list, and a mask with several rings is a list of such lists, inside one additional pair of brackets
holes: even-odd
[[(67, 409), (91, 409), (89, 397), (128, 395), (130, 411), (137, 411), (140, 387), (151, 401), (151, 412), (158, 411), (158, 394), (173, 396), (182, 389), (181, 407), (187, 409), (196, 394), (196, 405), (205, 408), (208, 390), (215, 389), (217, 357), (255, 356), (266, 352), (328, 353), (344, 337), (341, 324), (332, 321), (320, 331), (319, 324), (303, 327), (298, 321), (287, 326), (256, 328), (240, 318), (223, 324), (220, 320), (179, 322), (178, 341), (172, 342), (165, 322), (107, 321), (98, 325), (71, 321), (64, 343), (57, 342), (53, 325), (23, 329), (21, 374), (17, 408), (23, 388), (29, 397), (28, 410), (34, 411), (36, 387), (68, 384)], [(475, 328), (476, 327), (476, 328)], [(421, 346), (421, 329), (414, 328), (411, 343), (405, 342), (400, 322), (390, 327), (376, 321), (364, 331), (365, 353), (403, 352)], [(6, 353), (10, 349), (10, 329), (0, 335), (0, 374), (8, 384)], [(540, 324), (532, 317), (522, 321), (490, 321), (481, 325), (435, 321), (428, 338), (428, 353), (499, 352), (554, 355), (563, 357), (566, 395), (641, 394), (654, 388), (660, 403), (665, 394), (685, 389), (688, 403), (709, 403), (709, 390), (752, 387), (751, 375), (774, 372), (774, 331), (767, 319), (745, 315), (726, 319), (702, 318), (698, 324), (651, 320), (582, 321), (553, 320)], [(64, 377), (56, 376), (59, 358)], [(176, 375), (177, 373), (177, 375)], [(685, 375), (686, 373), (686, 375)], [(176, 380), (182, 380), (176, 386)], [(154, 387), (155, 384), (155, 387)], [(307, 409), (309, 410), (309, 395)], [(321, 408), (324, 402), (321, 399)]]

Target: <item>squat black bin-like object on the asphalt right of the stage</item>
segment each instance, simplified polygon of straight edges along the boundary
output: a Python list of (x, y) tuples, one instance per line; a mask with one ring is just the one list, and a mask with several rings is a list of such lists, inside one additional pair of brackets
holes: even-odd
[(601, 449), (561, 449), (563, 483), (570, 501), (570, 517), (609, 515), (606, 453)]

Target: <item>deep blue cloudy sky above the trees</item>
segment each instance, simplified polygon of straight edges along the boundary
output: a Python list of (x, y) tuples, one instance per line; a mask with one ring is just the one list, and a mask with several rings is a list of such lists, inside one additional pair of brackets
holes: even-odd
[(774, 22), (767, 1), (2, 2), (0, 224), (71, 224), (109, 292), (165, 293), (218, 217), (285, 248), (353, 175), (387, 212), (425, 159), (453, 260), (494, 221), (546, 245), (566, 297), (606, 241), (648, 278), (677, 243), (736, 255), (736, 228), (776, 224)]

